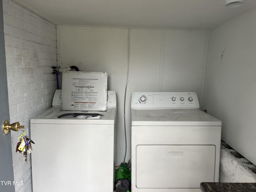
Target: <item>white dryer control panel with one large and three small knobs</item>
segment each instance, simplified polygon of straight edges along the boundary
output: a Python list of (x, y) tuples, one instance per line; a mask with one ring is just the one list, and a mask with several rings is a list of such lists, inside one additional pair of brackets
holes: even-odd
[(195, 92), (134, 92), (131, 108), (199, 109)]

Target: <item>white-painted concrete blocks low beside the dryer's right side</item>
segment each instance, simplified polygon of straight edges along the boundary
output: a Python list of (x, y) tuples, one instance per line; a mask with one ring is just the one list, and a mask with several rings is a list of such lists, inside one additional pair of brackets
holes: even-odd
[(256, 166), (224, 142), (220, 150), (220, 182), (256, 182)]

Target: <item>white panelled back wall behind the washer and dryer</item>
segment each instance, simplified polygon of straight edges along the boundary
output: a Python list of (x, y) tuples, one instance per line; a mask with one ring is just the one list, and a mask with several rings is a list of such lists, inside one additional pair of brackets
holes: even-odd
[[(130, 38), (129, 38), (130, 35)], [(124, 91), (130, 159), (130, 103), (136, 91), (195, 91), (202, 103), (208, 32), (57, 26), (58, 66), (108, 72), (108, 90), (117, 94), (117, 159), (124, 160)]]

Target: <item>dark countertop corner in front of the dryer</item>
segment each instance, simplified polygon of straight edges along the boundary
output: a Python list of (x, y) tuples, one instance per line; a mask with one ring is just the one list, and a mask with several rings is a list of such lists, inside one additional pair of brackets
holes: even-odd
[(200, 184), (202, 192), (256, 192), (256, 183), (210, 183)]

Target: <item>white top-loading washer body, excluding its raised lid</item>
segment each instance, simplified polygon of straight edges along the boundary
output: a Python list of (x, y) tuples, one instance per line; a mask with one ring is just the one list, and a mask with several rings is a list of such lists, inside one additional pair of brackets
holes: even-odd
[(30, 120), (33, 191), (113, 191), (116, 93), (106, 111), (54, 106)]

